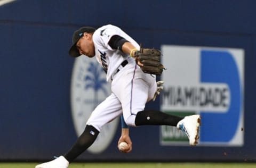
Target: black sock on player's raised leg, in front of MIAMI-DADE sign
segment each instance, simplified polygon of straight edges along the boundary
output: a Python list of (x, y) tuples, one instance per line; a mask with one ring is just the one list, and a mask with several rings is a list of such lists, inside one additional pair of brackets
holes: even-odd
[(178, 124), (183, 117), (169, 115), (161, 111), (140, 111), (135, 117), (135, 125), (171, 125)]

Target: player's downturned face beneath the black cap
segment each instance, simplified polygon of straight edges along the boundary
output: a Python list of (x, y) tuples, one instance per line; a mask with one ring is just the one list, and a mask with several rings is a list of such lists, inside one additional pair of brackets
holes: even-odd
[(83, 54), (88, 57), (94, 57), (95, 48), (92, 41), (92, 33), (85, 32), (84, 36), (77, 41), (76, 47), (81, 55)]

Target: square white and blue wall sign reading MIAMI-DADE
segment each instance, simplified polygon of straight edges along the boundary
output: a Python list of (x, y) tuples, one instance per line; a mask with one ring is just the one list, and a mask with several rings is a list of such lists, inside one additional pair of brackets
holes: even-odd
[[(199, 145), (242, 146), (244, 135), (244, 51), (235, 48), (163, 45), (168, 64), (161, 110), (202, 115)], [(162, 145), (187, 145), (173, 127), (161, 126)]]

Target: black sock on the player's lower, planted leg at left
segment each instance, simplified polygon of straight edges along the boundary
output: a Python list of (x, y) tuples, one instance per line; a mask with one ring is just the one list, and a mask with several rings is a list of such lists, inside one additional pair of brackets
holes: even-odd
[(81, 155), (87, 148), (89, 148), (97, 136), (99, 135), (99, 131), (92, 127), (91, 125), (86, 125), (84, 132), (78, 139), (76, 140), (75, 144), (64, 157), (70, 163), (74, 161), (76, 157)]

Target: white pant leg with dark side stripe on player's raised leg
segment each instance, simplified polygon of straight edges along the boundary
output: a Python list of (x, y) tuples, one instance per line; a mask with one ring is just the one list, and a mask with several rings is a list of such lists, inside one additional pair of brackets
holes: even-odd
[(144, 110), (156, 91), (155, 76), (142, 72), (135, 65), (114, 80), (111, 89), (122, 104), (124, 120), (127, 125), (135, 126), (135, 116)]

